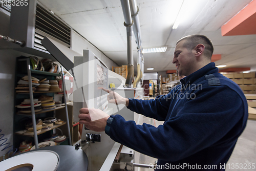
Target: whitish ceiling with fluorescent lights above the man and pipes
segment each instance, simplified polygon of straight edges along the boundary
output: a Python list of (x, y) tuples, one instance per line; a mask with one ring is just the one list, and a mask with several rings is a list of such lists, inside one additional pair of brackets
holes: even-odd
[[(126, 28), (120, 0), (39, 0), (118, 65), (127, 64)], [(221, 36), (221, 26), (251, 0), (137, 0), (142, 47), (167, 46), (164, 53), (144, 54), (144, 72), (175, 70), (172, 63), (177, 40), (190, 34), (208, 36), (221, 54), (217, 65), (256, 68), (256, 35)], [(186, 8), (189, 7), (189, 8)], [(185, 13), (184, 13), (185, 10)], [(172, 29), (177, 14), (183, 17)], [(178, 15), (178, 16), (179, 16)], [(134, 63), (137, 50), (134, 38)]]

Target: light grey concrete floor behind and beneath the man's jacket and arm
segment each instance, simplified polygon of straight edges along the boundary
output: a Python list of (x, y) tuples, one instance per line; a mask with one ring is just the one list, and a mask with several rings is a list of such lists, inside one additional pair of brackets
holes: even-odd
[[(151, 124), (151, 119), (143, 117), (143, 122)], [(163, 122), (156, 121), (156, 125)], [(140, 154), (139, 163), (150, 164), (155, 163), (157, 159)], [(243, 164), (244, 168), (236, 169), (236, 163)], [(255, 168), (249, 169), (248, 164), (254, 163)], [(229, 164), (229, 165), (228, 165)], [(240, 166), (240, 165), (239, 165)], [(232, 168), (233, 167), (233, 168)], [(150, 168), (137, 168), (138, 171), (152, 171)], [(256, 120), (248, 120), (243, 134), (239, 137), (236, 147), (226, 165), (226, 171), (252, 171), (256, 170)]]

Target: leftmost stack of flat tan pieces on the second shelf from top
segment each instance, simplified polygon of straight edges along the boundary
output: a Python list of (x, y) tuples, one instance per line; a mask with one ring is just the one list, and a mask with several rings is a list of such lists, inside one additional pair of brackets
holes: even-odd
[[(31, 77), (31, 80), (32, 80), (32, 91), (34, 92), (35, 87), (39, 86), (39, 79), (35, 77)], [(18, 81), (18, 85), (15, 89), (16, 89), (16, 93), (29, 93), (29, 78), (27, 75)]]

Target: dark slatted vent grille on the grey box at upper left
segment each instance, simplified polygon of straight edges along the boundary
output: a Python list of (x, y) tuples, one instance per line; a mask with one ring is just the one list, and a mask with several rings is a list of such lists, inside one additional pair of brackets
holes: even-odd
[[(70, 47), (71, 28), (38, 4), (36, 5), (35, 30), (47, 33)], [(43, 38), (43, 35), (36, 32), (34, 46), (46, 50), (40, 42)]]

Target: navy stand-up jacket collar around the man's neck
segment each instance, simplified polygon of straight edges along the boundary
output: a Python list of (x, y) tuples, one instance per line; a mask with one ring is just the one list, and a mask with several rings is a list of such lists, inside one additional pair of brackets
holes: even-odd
[(216, 72), (218, 73), (219, 69), (215, 67), (215, 62), (210, 62), (203, 68), (197, 70), (196, 72), (186, 76), (185, 78), (180, 79), (180, 82), (182, 83), (182, 88), (184, 88), (186, 84), (191, 84), (197, 79), (203, 77), (204, 75), (208, 75)]

